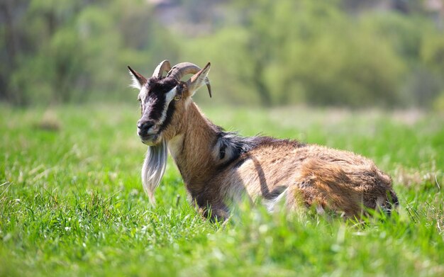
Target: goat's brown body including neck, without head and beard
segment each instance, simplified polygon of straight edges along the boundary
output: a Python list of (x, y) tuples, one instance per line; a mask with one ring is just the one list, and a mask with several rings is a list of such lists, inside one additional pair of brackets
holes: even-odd
[(390, 177), (370, 159), (292, 140), (238, 137), (212, 125), (194, 103), (189, 112), (193, 123), (168, 146), (193, 202), (212, 215), (227, 217), (227, 203), (244, 196), (262, 198), (269, 210), (284, 198), (289, 210), (313, 205), (348, 217), (397, 202)]

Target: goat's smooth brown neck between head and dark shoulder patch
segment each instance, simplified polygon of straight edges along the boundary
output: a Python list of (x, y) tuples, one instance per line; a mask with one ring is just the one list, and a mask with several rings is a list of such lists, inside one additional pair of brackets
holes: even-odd
[(194, 194), (204, 188), (214, 170), (211, 151), (217, 140), (218, 130), (194, 103), (189, 104), (183, 122), (182, 132), (168, 142), (168, 149), (187, 189)]

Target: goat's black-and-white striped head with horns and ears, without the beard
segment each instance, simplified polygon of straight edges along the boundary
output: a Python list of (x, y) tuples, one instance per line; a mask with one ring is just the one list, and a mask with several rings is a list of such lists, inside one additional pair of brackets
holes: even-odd
[[(146, 79), (128, 67), (133, 77), (132, 86), (139, 89), (138, 101), (142, 115), (137, 123), (138, 136), (145, 145), (158, 145), (162, 140), (170, 140), (183, 127), (182, 115), (190, 98), (206, 84), (211, 97), (211, 86), (206, 77), (210, 63), (204, 69), (195, 64), (182, 62), (171, 67), (167, 60), (161, 62), (152, 77)], [(162, 77), (163, 72), (168, 72)], [(187, 74), (193, 76), (181, 81)]]

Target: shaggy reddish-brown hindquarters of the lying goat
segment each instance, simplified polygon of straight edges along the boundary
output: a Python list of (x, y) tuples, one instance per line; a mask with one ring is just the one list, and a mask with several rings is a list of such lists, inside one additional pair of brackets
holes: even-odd
[(345, 217), (360, 218), (367, 209), (388, 215), (398, 205), (392, 180), (374, 164), (345, 164), (309, 159), (287, 191), (287, 207), (301, 204), (316, 207), (318, 213), (333, 210)]

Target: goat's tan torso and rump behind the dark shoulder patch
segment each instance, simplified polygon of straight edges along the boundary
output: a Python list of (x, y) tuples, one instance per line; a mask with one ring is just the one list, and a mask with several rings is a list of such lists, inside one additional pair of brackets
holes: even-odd
[(397, 204), (391, 178), (352, 152), (289, 140), (267, 140), (244, 153), (215, 179), (221, 195), (274, 203), (289, 209), (315, 205), (353, 216), (362, 207), (391, 210)]

